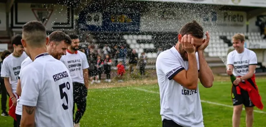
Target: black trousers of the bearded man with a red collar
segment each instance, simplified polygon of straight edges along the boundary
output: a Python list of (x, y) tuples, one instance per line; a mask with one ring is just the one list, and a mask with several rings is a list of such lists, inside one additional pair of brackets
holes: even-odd
[[(85, 113), (86, 103), (87, 103), (87, 88), (84, 84), (79, 82), (73, 82), (73, 97), (74, 97), (74, 105), (73, 105), (73, 120), (74, 123), (79, 123), (81, 117)], [(75, 103), (77, 104), (77, 112), (75, 114)]]

